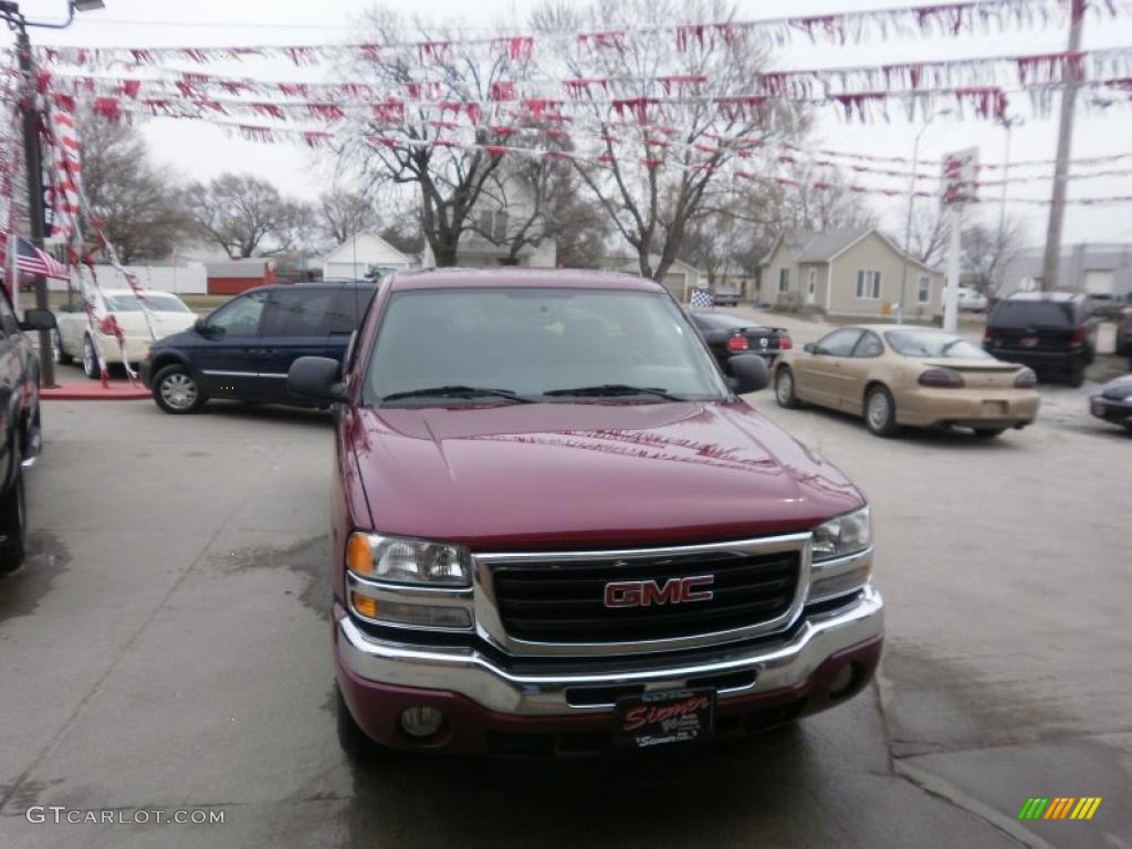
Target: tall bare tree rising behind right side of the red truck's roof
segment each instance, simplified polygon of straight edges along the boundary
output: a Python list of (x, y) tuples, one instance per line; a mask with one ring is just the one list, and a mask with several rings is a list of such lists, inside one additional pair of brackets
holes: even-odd
[(766, 55), (747, 31), (723, 23), (672, 38), (641, 27), (732, 15), (721, 0), (598, 0), (582, 10), (551, 3), (533, 16), (535, 31), (551, 40), (597, 34), (563, 57), (581, 80), (577, 101), (593, 127), (590, 137), (600, 140), (592, 151), (597, 165), (575, 162), (643, 276), (663, 278), (689, 225), (726, 192), (737, 156), (804, 125), (781, 100), (751, 96), (761, 91)]

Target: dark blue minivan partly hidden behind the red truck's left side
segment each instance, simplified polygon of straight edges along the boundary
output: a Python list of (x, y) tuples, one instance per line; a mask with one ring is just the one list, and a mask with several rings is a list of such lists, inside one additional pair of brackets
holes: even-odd
[(149, 346), (138, 371), (166, 413), (191, 413), (208, 398), (309, 406), (288, 392), (300, 357), (341, 361), (376, 283), (295, 283), (249, 289), (192, 329)]

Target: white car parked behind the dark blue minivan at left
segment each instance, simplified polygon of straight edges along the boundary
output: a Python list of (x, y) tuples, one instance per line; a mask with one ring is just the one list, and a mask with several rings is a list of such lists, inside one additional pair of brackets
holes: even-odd
[[(126, 361), (137, 363), (149, 352), (149, 343), (154, 337), (163, 338), (191, 327), (196, 314), (185, 301), (169, 292), (143, 292), (146, 307), (153, 323), (153, 336), (142, 311), (137, 295), (129, 289), (104, 289), (96, 294), (94, 317), (104, 321), (114, 317), (126, 337)], [(92, 329), (86, 312), (82, 307), (71, 311), (62, 311), (57, 316), (59, 328), (53, 334), (55, 362), (68, 363), (79, 360), (83, 374), (93, 380), (98, 379), (98, 358), (109, 362), (122, 361), (122, 349), (113, 333)]]

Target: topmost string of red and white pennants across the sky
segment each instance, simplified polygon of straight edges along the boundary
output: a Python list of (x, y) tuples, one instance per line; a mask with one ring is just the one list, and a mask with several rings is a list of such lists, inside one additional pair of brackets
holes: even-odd
[[(799, 40), (812, 44), (863, 43), (902, 37), (963, 37), (1002, 34), (1021, 28), (1061, 26), (1073, 8), (1073, 0), (967, 0), (946, 5), (916, 5), (891, 9), (844, 11), (827, 15), (787, 16), (754, 20), (687, 23), (671, 26), (623, 27), (602, 32), (524, 33), (492, 37), (455, 36), (428, 41), (387, 41), (383, 43), (240, 45), (240, 46), (117, 46), (117, 48), (37, 48), (50, 65), (106, 67), (113, 63), (156, 65), (190, 61), (195, 65), (242, 61), (249, 58), (282, 58), (295, 66), (337, 62), (344, 55), (378, 60), (391, 53), (408, 54), (421, 65), (444, 61), (455, 49), (481, 49), (514, 61), (530, 60), (546, 42), (556, 50), (624, 51), (635, 38), (668, 40), (676, 49), (689, 51), (718, 41), (731, 41), (740, 34), (755, 34), (773, 44)], [(1132, 0), (1094, 0), (1084, 3), (1088, 14), (1112, 18), (1132, 11)], [(458, 29), (457, 29), (458, 32)]]

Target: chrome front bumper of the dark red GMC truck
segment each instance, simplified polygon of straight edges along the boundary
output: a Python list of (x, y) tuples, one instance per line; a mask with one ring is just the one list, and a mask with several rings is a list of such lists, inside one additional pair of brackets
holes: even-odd
[[(711, 659), (646, 663), (641, 657), (624, 663), (607, 659), (600, 674), (561, 672), (514, 675), (483, 653), (469, 648), (422, 649), (376, 640), (349, 616), (337, 624), (336, 651), (343, 667), (355, 676), (384, 685), (456, 693), (492, 711), (516, 715), (582, 715), (608, 711), (611, 704), (571, 704), (577, 687), (644, 685), (646, 691), (679, 689), (691, 678), (754, 672), (753, 685), (721, 689), (720, 700), (801, 684), (832, 654), (884, 633), (881, 593), (867, 584), (850, 606), (807, 617), (789, 638), (754, 648), (719, 645)], [(585, 659), (578, 659), (578, 666)], [(530, 666), (530, 663), (529, 663)]]

